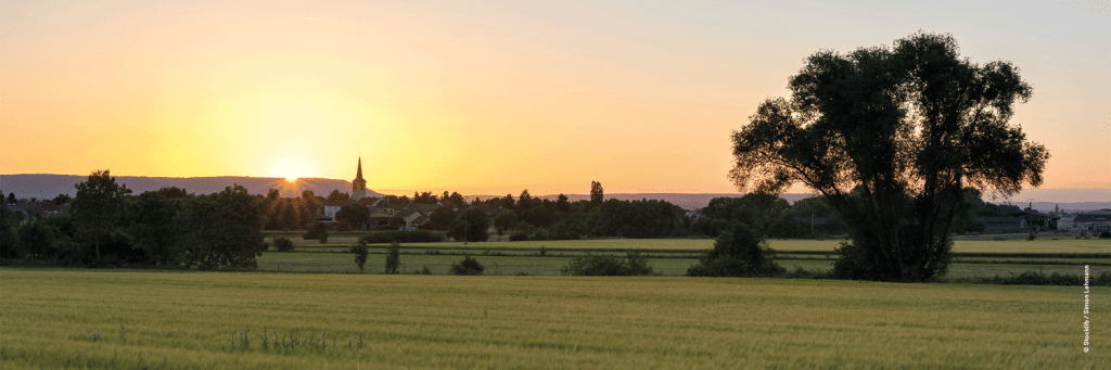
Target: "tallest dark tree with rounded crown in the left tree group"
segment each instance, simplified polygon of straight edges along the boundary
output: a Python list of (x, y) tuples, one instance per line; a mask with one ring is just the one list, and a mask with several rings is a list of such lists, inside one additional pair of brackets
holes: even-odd
[(96, 171), (74, 186), (73, 214), (78, 229), (92, 239), (97, 259), (100, 259), (100, 239), (120, 227), (124, 211), (124, 197), (131, 193), (124, 184), (116, 183), (109, 170)]

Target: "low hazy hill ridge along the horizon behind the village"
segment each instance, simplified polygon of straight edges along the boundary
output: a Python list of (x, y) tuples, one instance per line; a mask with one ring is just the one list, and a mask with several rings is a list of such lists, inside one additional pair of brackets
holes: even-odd
[[(17, 198), (51, 199), (58, 194), (77, 194), (73, 188), (78, 182), (84, 181), (88, 176), (76, 174), (0, 174), (0, 191), (4, 196), (14, 192)], [(240, 184), (247, 188), (252, 194), (266, 194), (270, 189), (278, 189), (282, 197), (300, 197), (301, 191), (311, 190), (317, 196), (327, 196), (332, 190), (351, 192), (351, 181), (336, 179), (306, 178), (299, 179), (297, 184), (290, 184), (282, 178), (252, 178), (252, 177), (202, 177), (202, 178), (164, 178), (164, 177), (134, 177), (118, 176), (116, 181), (127, 184), (136, 193), (148, 190), (158, 190), (168, 187), (183, 188), (190, 193), (210, 194), (223, 190), (232, 184)], [(381, 197), (382, 193), (367, 189), (368, 197)], [(556, 200), (559, 194), (536, 196)], [(607, 193), (605, 199), (618, 200), (641, 200), (657, 199), (665, 200), (683, 209), (694, 210), (703, 208), (713, 198), (741, 197), (740, 193)], [(466, 196), (467, 199), (474, 197), (483, 200), (504, 196)], [(517, 194), (513, 194), (517, 197)], [(589, 194), (567, 194), (571, 201), (590, 199)], [(794, 203), (800, 199), (812, 197), (811, 194), (788, 193), (782, 196), (787, 201)], [(1097, 209), (1111, 209), (1111, 189), (1031, 189), (1012, 197), (1009, 202), (1025, 208), (1027, 201), (1033, 198), (1035, 210), (1052, 211), (1055, 207), (1068, 211), (1089, 211)], [(985, 199), (993, 203), (1007, 202), (1002, 199)]]

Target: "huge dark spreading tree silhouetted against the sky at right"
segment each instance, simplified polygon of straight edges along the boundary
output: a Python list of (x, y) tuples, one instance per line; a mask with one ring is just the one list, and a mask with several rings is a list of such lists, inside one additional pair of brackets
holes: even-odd
[(1039, 186), (1044, 147), (1008, 123), (1030, 86), (1010, 62), (960, 57), (948, 34), (891, 48), (819, 51), (733, 132), (742, 192), (802, 183), (825, 196), (852, 243), (834, 274), (920, 281), (943, 273), (964, 189), (1004, 197)]

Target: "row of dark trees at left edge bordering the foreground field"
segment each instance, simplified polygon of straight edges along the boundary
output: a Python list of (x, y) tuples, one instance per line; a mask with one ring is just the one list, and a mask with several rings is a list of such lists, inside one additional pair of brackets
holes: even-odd
[[(132, 196), (109, 171), (77, 184), (68, 213), (18, 226), (0, 210), (0, 258), (67, 266), (253, 268), (266, 208), (243, 187), (208, 196), (166, 188)], [(173, 198), (171, 198), (173, 197)]]

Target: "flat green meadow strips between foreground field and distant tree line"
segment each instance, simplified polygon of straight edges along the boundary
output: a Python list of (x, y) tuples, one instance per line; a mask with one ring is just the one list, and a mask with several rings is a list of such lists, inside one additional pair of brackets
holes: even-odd
[[(348, 253), (350, 240), (329, 238), (321, 244), (314, 240), (293, 239), (296, 253), (264, 252), (258, 259), (262, 271), (284, 272), (358, 272)], [(829, 270), (837, 259), (834, 249), (841, 240), (769, 240), (778, 253), (777, 261), (789, 271)], [(366, 271), (384, 270), (386, 244), (372, 244)], [(699, 256), (713, 247), (712, 239), (592, 239), (560, 241), (492, 241), (402, 243), (401, 270), (417, 272), (424, 267), (432, 273), (448, 273), (451, 263), (462, 256), (472, 256), (487, 267), (488, 274), (556, 276), (572, 258), (584, 253), (623, 256), (629, 250), (641, 251), (649, 258), (653, 272), (682, 276), (698, 262)], [(544, 256), (541, 257), (541, 250)], [(953, 246), (953, 263), (948, 279), (1010, 276), (1023, 272), (1079, 274), (1090, 264), (1093, 274), (1111, 271), (1111, 240), (1042, 238), (1037, 240), (975, 241), (958, 240)]]

